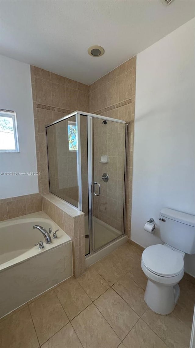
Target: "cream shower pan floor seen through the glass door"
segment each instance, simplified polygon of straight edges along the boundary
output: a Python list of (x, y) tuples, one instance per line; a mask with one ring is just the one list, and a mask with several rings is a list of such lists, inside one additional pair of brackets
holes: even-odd
[[(113, 239), (120, 237), (122, 232), (116, 230), (107, 223), (94, 218), (94, 244), (95, 250), (99, 249), (101, 246), (111, 242)], [(85, 235), (88, 235), (88, 216), (85, 216)], [(85, 250), (88, 251), (89, 239), (85, 238)]]

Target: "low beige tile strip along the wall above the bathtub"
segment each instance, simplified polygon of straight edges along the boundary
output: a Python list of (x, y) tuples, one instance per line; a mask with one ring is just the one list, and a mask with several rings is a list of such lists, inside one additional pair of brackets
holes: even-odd
[(0, 221), (42, 211), (40, 193), (0, 199)]

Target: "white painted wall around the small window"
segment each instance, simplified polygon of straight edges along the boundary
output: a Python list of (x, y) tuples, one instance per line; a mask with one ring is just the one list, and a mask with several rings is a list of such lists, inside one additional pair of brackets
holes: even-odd
[[(30, 66), (0, 55), (0, 109), (17, 116), (19, 153), (0, 153), (0, 172), (36, 172)], [(0, 199), (38, 192), (37, 176), (0, 175)]]

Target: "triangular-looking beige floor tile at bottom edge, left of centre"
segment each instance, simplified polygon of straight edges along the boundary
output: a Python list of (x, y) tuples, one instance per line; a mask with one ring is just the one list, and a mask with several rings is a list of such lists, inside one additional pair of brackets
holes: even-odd
[(44, 343), (42, 348), (83, 348), (73, 326), (68, 323)]

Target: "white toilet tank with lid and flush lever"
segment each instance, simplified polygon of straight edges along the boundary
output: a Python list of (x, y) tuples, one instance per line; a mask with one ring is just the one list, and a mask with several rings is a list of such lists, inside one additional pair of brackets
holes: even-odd
[(195, 254), (195, 216), (163, 208), (160, 211), (161, 240), (187, 254)]

